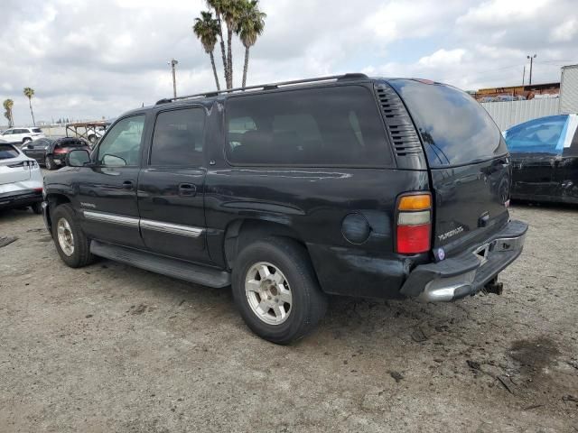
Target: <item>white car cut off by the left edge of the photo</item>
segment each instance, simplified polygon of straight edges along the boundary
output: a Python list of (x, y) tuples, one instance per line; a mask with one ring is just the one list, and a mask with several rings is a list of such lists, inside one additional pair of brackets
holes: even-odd
[(32, 207), (42, 213), (42, 172), (14, 144), (0, 143), (0, 209)]

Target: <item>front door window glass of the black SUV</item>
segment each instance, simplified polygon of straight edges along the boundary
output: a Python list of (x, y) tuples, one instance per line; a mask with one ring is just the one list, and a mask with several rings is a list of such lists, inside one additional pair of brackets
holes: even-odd
[(144, 115), (126, 117), (115, 124), (98, 146), (98, 165), (138, 165), (144, 130)]

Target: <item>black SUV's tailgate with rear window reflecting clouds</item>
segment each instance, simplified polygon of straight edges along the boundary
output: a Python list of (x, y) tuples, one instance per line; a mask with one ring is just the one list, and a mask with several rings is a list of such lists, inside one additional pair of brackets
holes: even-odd
[(478, 243), (508, 221), (508, 149), (470, 95), (433, 82), (393, 79), (422, 136), (434, 199), (433, 246)]

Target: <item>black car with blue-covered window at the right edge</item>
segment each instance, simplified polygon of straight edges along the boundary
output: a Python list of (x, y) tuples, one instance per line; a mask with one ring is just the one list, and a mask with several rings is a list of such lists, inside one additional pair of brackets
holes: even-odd
[(550, 115), (504, 133), (512, 157), (511, 197), (578, 203), (578, 115)]

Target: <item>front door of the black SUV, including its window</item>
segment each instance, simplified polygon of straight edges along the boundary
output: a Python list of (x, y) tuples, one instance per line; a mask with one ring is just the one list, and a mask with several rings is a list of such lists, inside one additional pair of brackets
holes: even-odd
[(144, 118), (132, 115), (114, 124), (92, 156), (93, 164), (75, 176), (82, 228), (91, 238), (144, 246), (136, 204)]

